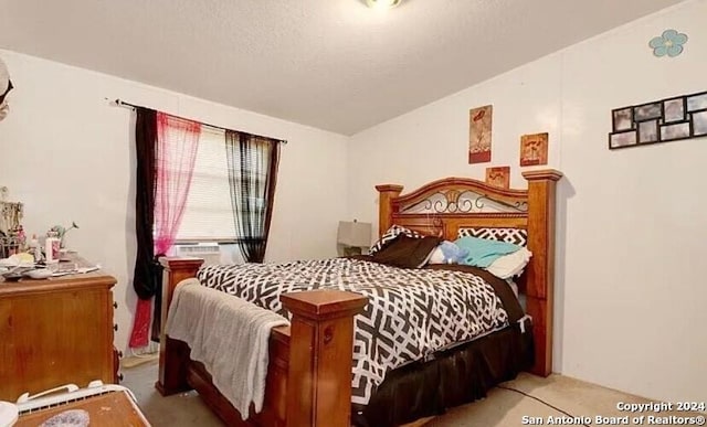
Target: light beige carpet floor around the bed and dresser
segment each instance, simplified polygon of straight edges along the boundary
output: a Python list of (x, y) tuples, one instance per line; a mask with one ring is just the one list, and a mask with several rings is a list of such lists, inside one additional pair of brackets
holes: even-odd
[[(123, 385), (135, 393), (145, 416), (155, 427), (182, 426), (223, 426), (194, 392), (162, 397), (154, 387), (157, 380), (157, 362), (145, 363), (134, 367), (123, 367)], [(686, 413), (622, 413), (616, 408), (619, 402), (646, 403), (648, 401), (600, 387), (582, 381), (562, 375), (550, 375), (540, 378), (523, 373), (516, 380), (504, 383), (502, 387), (493, 388), (488, 396), (473, 404), (450, 409), (445, 415), (419, 420), (405, 427), (511, 427), (521, 426), (523, 417), (540, 417), (544, 425), (548, 425), (548, 417), (561, 417), (561, 409), (572, 416), (591, 417), (591, 425), (597, 416), (697, 416)], [(538, 402), (545, 401), (547, 404)], [(556, 408), (552, 408), (551, 405)], [(527, 423), (525, 425), (528, 425)], [(560, 424), (569, 425), (569, 424)], [(580, 424), (581, 425), (581, 424)], [(632, 424), (635, 425), (635, 424)], [(647, 425), (644, 421), (644, 425)]]

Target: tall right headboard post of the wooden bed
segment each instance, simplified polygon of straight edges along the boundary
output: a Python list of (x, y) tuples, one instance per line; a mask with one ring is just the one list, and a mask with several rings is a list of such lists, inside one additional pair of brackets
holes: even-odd
[(535, 364), (531, 372), (552, 372), (552, 314), (555, 310), (555, 193), (562, 172), (544, 169), (523, 172), (528, 180), (528, 249), (526, 311), (532, 318)]

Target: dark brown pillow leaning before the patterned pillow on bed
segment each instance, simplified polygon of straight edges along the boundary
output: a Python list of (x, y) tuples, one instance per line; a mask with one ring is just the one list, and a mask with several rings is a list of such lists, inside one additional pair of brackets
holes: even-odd
[(428, 264), (430, 255), (440, 245), (440, 237), (416, 238), (401, 233), (386, 247), (376, 252), (372, 259), (393, 267), (420, 268)]

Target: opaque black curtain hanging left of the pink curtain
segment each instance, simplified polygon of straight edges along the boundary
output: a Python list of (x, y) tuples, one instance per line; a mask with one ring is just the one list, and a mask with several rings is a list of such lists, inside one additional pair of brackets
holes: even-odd
[[(136, 107), (135, 148), (137, 152), (137, 179), (135, 195), (135, 233), (137, 257), (133, 287), (140, 299), (159, 297), (161, 269), (156, 268), (152, 224), (155, 224), (155, 191), (157, 184), (157, 111)], [(159, 298), (155, 299), (157, 311)], [(158, 320), (159, 316), (154, 320)], [(155, 328), (157, 323), (157, 333)], [(152, 322), (152, 340), (159, 339), (159, 321)]]

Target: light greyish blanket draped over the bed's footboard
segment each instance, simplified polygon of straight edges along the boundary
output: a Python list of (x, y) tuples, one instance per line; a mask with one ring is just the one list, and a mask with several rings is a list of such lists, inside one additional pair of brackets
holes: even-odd
[(249, 417), (263, 407), (271, 329), (288, 324), (284, 317), (243, 299), (187, 279), (175, 291), (167, 334), (189, 344), (191, 360), (204, 364), (213, 384)]

